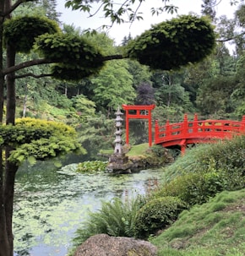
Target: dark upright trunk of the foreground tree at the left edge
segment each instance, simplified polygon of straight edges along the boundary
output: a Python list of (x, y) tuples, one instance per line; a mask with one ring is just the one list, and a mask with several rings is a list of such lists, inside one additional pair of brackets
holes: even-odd
[[(12, 67), (15, 63), (15, 51), (11, 46), (7, 46), (7, 66)], [(6, 123), (14, 124), (15, 120), (15, 84), (14, 73), (8, 74), (7, 78), (7, 112)], [(14, 204), (14, 180), (18, 166), (9, 162), (11, 147), (5, 149), (5, 170), (3, 163), (1, 164), (1, 184), (0, 184), (0, 205), (2, 207), (0, 213), (0, 256), (14, 255), (14, 236), (12, 228), (13, 204)], [(1, 161), (2, 155), (1, 155)], [(4, 170), (4, 172), (3, 172)], [(4, 174), (3, 174), (4, 173)]]

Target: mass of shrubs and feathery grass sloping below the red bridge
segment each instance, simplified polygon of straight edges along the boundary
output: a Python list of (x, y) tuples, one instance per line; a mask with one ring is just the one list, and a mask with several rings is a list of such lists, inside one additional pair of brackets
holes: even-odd
[(153, 197), (176, 196), (203, 204), (216, 193), (245, 188), (245, 136), (189, 150), (166, 168), (166, 182)]

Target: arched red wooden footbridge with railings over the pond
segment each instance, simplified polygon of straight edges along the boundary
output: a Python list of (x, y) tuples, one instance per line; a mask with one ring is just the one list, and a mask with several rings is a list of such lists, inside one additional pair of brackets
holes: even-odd
[(188, 121), (185, 115), (182, 123), (169, 123), (159, 126), (155, 121), (155, 144), (164, 147), (179, 145), (182, 153), (187, 144), (207, 143), (215, 139), (231, 139), (236, 134), (245, 133), (245, 116), (242, 122), (231, 120), (198, 120)]

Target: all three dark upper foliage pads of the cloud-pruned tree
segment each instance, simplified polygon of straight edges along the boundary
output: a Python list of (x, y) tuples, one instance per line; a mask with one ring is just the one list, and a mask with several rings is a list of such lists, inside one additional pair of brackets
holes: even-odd
[(4, 23), (4, 42), (16, 52), (37, 51), (42, 63), (52, 63), (52, 77), (77, 81), (98, 74), (108, 60), (126, 57), (161, 70), (197, 63), (213, 51), (215, 32), (208, 19), (182, 15), (129, 41), (123, 55), (112, 55), (92, 36), (62, 33), (46, 17), (22, 16)]

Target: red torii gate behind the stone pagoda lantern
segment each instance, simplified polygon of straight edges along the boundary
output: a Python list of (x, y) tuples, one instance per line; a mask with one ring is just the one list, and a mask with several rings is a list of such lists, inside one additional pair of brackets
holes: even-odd
[[(148, 119), (149, 125), (149, 146), (152, 145), (152, 132), (151, 132), (151, 111), (155, 108), (155, 105), (125, 105), (123, 104), (123, 110), (126, 111), (126, 144), (129, 144), (129, 118), (133, 119)], [(135, 114), (129, 113), (129, 111), (136, 111)], [(142, 111), (147, 111), (142, 114)]]

